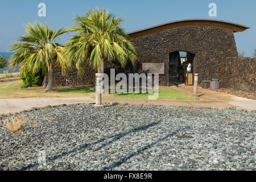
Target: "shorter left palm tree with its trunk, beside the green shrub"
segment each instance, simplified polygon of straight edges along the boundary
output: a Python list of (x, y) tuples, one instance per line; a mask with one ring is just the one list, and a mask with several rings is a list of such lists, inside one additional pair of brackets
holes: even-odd
[(42, 23), (27, 24), (26, 35), (14, 43), (10, 51), (15, 51), (10, 59), (10, 67), (20, 69), (29, 68), (33, 73), (46, 67), (48, 69), (48, 84), (46, 90), (53, 88), (53, 65), (59, 64), (65, 72), (66, 62), (63, 56), (63, 47), (55, 43), (55, 39), (68, 32), (65, 28), (51, 30)]

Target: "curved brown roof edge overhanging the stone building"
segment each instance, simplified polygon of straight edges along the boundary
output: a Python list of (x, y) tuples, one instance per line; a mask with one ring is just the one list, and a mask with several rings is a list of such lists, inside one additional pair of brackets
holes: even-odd
[(237, 23), (225, 22), (222, 20), (214, 20), (214, 19), (184, 19), (177, 20), (174, 22), (168, 22), (164, 24), (159, 24), (158, 26), (153, 26), (149, 28), (144, 28), (142, 30), (134, 31), (128, 33), (129, 39), (138, 38), (145, 35), (154, 34), (156, 32), (168, 30), (171, 28), (183, 27), (183, 26), (210, 26), (210, 27), (221, 27), (228, 28), (233, 32), (242, 32), (245, 31), (247, 26), (243, 26)]

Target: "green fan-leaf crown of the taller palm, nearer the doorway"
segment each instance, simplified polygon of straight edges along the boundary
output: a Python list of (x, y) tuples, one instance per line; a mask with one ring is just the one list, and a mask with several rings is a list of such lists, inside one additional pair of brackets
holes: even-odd
[(120, 27), (121, 18), (108, 13), (106, 9), (96, 9), (88, 10), (85, 16), (77, 15), (75, 20), (76, 26), (70, 31), (77, 34), (65, 45), (65, 55), (69, 67), (76, 65), (79, 75), (86, 64), (92, 65), (98, 73), (104, 73), (104, 61), (117, 60), (121, 67), (131, 61), (135, 66), (136, 52)]

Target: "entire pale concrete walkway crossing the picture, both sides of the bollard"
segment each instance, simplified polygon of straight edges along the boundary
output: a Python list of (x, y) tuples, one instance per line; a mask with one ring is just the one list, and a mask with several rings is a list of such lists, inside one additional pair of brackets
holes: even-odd
[[(170, 87), (166, 87), (170, 88)], [(171, 89), (193, 94), (193, 86), (173, 86)], [(146, 100), (133, 98), (102, 98), (103, 103), (118, 102), (130, 105), (163, 105), (184, 107), (208, 107), (212, 109), (243, 109), (256, 110), (256, 101), (247, 98), (232, 96), (230, 94), (213, 92), (207, 89), (198, 89), (200, 100)], [(90, 104), (95, 102), (94, 98), (6, 98), (0, 99), (0, 114), (15, 113), (31, 107), (55, 106), (61, 104)]]

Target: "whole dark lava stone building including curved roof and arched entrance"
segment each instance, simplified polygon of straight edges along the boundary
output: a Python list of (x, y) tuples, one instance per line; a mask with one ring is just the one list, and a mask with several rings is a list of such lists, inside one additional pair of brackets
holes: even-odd
[[(179, 20), (130, 32), (129, 39), (138, 53), (135, 68), (127, 64), (105, 63), (105, 73), (159, 73), (159, 85), (193, 85), (193, 74), (199, 73), (199, 85), (212, 78), (223, 88), (254, 92), (256, 59), (238, 57), (235, 32), (246, 26), (209, 19)], [(191, 65), (191, 71), (187, 70)], [(60, 86), (95, 85), (95, 72), (85, 67), (82, 77), (76, 69), (61, 76), (55, 68), (56, 84)]]

